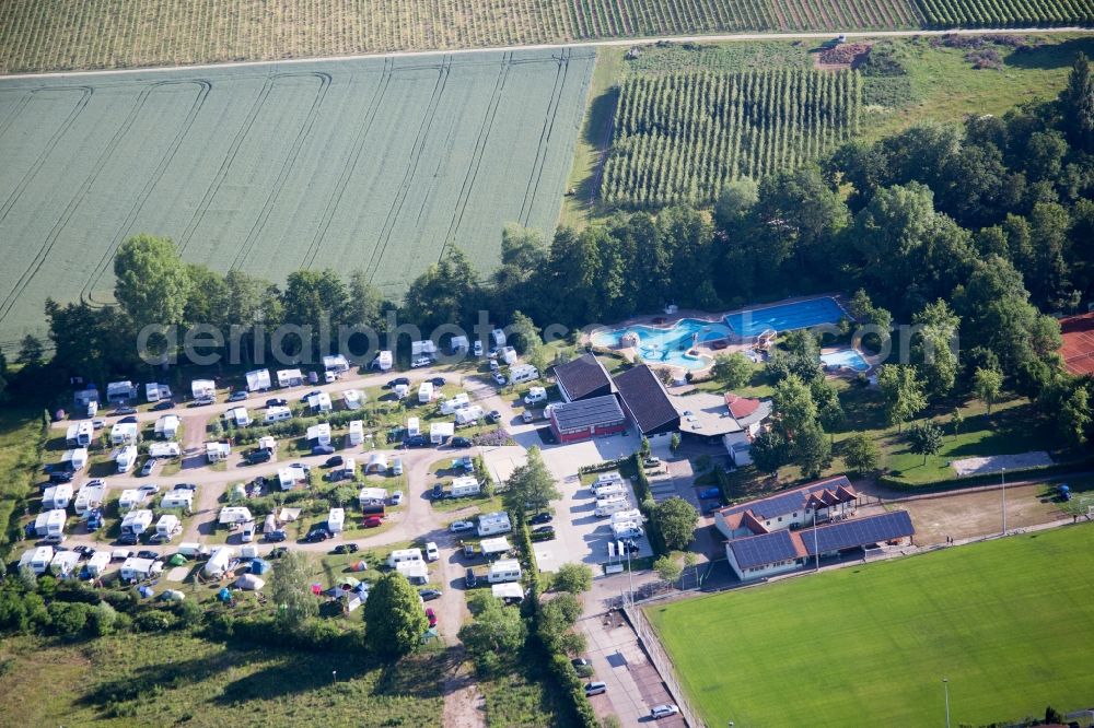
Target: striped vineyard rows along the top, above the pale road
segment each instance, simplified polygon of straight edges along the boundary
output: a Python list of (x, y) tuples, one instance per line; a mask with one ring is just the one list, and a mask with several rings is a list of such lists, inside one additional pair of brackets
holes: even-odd
[(1083, 0), (7, 0), (0, 73), (703, 33), (1092, 22)]

